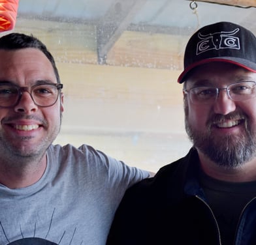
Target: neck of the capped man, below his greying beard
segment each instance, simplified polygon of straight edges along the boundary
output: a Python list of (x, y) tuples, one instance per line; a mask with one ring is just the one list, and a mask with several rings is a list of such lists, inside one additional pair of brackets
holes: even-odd
[(227, 182), (250, 182), (256, 180), (256, 159), (236, 168), (219, 166), (199, 152), (200, 166), (206, 175)]

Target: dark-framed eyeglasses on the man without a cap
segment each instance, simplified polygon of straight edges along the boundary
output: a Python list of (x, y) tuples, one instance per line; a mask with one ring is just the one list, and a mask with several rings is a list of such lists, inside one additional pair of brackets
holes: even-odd
[(30, 94), (37, 106), (43, 108), (53, 106), (62, 88), (63, 84), (61, 83), (40, 83), (31, 87), (19, 87), (12, 83), (0, 83), (0, 108), (16, 106), (24, 92)]

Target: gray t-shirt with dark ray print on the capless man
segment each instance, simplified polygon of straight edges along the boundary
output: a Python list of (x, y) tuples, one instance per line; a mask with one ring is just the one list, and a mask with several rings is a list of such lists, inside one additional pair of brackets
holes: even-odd
[(0, 184), (0, 244), (103, 245), (125, 190), (146, 177), (88, 145), (51, 145), (38, 182)]

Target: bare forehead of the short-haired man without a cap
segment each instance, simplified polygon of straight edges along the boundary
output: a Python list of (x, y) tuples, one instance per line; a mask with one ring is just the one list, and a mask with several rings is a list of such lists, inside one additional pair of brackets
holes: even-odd
[(36, 48), (0, 50), (0, 80), (26, 82), (37, 79), (55, 79), (52, 63)]

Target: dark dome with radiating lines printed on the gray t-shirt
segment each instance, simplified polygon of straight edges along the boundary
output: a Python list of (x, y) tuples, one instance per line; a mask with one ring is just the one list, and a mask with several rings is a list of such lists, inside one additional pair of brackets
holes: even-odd
[[(7, 232), (6, 232), (8, 227), (4, 227), (0, 220), (0, 228), (2, 229), (3, 234), (5, 235), (5, 239), (7, 241), (7, 243), (5, 245), (61, 245), (61, 241), (64, 241), (63, 239), (65, 239), (66, 243), (68, 241), (67, 244), (72, 245), (72, 239), (76, 235), (76, 228), (74, 228), (74, 231), (72, 232), (71, 237), (65, 236), (66, 232), (63, 231), (63, 234), (60, 235), (59, 241), (57, 243), (50, 241), (51, 239), (48, 235), (49, 235), (50, 229), (52, 227), (52, 221), (54, 220), (54, 212), (55, 212), (55, 209), (52, 212), (52, 217), (50, 219), (50, 225), (49, 225), (48, 231), (46, 231), (46, 235), (44, 237), (36, 237), (36, 236), (35, 237), (25, 237), (22, 232), (22, 229), (20, 228), (20, 238), (18, 238), (18, 240), (15, 240), (15, 241), (10, 241), (10, 238), (8, 238)], [(37, 227), (37, 225), (35, 225), (35, 231), (33, 231), (34, 234), (36, 233), (36, 229), (37, 229), (36, 227)], [(82, 245), (82, 244), (83, 244), (83, 242), (81, 241), (80, 245)]]

